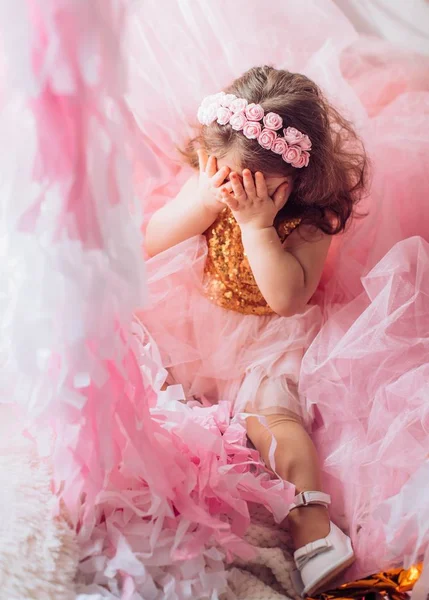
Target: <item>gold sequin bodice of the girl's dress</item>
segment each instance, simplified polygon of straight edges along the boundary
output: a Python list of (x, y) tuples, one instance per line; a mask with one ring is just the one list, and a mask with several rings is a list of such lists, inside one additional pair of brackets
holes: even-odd
[[(280, 241), (298, 227), (300, 219), (277, 227)], [(262, 296), (244, 252), (241, 231), (231, 211), (225, 209), (206, 231), (208, 256), (204, 269), (207, 297), (223, 308), (252, 315), (272, 315)]]

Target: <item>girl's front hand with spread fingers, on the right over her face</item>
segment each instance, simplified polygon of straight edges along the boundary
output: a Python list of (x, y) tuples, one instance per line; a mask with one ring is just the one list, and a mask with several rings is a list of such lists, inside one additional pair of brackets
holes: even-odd
[(262, 173), (256, 173), (253, 179), (252, 173), (245, 169), (243, 183), (237, 173), (231, 173), (230, 180), (232, 193), (222, 188), (222, 202), (229, 206), (240, 227), (272, 227), (277, 213), (289, 197), (288, 184), (282, 183), (270, 198)]

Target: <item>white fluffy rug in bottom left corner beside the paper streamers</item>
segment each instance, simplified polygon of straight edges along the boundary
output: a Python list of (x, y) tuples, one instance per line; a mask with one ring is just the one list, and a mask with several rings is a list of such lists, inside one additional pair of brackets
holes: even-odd
[(0, 411), (0, 600), (72, 600), (75, 538), (54, 517), (48, 465)]

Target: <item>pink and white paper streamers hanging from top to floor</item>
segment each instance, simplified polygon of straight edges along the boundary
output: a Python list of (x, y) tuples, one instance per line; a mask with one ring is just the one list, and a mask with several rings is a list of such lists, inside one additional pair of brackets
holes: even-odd
[[(33, 173), (41, 192), (18, 219), (16, 235), (24, 229), (35, 249), (44, 235), (38, 285), (42, 292), (63, 285), (64, 293), (51, 298), (32, 290), (41, 313), (26, 321), (24, 339), (34, 351), (17, 356), (35, 418), (31, 431), (40, 446), (47, 440), (55, 491), (78, 535), (78, 590), (109, 589), (124, 599), (160, 590), (183, 600), (216, 597), (226, 585), (225, 557), (249, 556), (248, 502), (281, 521), (293, 490), (270, 480), (226, 405), (168, 412), (142, 376), (160, 365), (147, 351), (144, 328), (131, 333), (140, 249), (129, 241), (130, 216), (108, 228), (115, 211), (127, 207), (124, 179), (135, 142), (123, 101), (123, 4), (24, 5), (37, 84), (28, 101), (37, 135)], [(56, 220), (41, 231), (47, 211)], [(92, 279), (98, 285), (88, 285)]]

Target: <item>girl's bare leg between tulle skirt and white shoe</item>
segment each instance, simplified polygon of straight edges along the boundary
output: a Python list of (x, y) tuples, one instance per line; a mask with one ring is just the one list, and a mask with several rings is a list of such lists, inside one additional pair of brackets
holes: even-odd
[[(267, 466), (272, 436), (277, 442), (275, 470), (293, 483), (297, 493), (322, 491), (320, 469), (313, 442), (292, 412), (265, 417), (268, 429), (256, 417), (248, 417), (247, 434)], [(291, 511), (288, 523), (295, 548), (329, 534), (329, 515), (323, 506), (310, 505)]]

